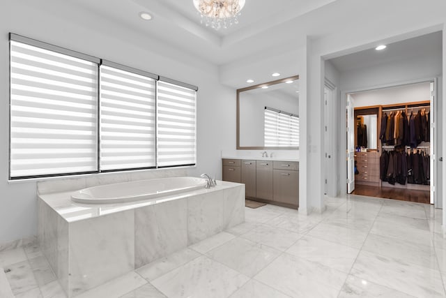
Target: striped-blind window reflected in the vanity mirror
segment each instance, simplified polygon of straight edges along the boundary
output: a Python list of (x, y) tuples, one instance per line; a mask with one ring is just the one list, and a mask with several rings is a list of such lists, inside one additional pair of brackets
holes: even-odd
[(265, 146), (299, 147), (299, 117), (265, 107)]

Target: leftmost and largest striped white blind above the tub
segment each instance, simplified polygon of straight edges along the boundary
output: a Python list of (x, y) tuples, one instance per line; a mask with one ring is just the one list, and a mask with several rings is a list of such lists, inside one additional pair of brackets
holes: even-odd
[(10, 177), (98, 170), (98, 64), (10, 41)]

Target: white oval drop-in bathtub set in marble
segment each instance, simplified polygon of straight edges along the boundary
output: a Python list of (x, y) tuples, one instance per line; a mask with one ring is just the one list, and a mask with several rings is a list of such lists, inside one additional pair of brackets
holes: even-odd
[(172, 177), (93, 186), (71, 194), (73, 202), (110, 204), (148, 200), (166, 195), (186, 193), (206, 186), (206, 179)]

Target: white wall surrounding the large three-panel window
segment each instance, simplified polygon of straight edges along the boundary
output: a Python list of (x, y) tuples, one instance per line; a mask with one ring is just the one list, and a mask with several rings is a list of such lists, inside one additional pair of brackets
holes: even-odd
[[(39, 3), (36, 3), (39, 2)], [(63, 2), (63, 3), (62, 3)], [(221, 178), (220, 150), (236, 147), (236, 92), (218, 81), (217, 67), (67, 1), (3, 0), (0, 15), (0, 244), (36, 234), (36, 182), (8, 184), (8, 33), (91, 54), (199, 87), (197, 167)]]

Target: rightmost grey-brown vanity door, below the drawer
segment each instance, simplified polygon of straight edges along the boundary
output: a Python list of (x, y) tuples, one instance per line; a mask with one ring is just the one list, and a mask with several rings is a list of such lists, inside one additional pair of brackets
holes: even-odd
[(273, 176), (273, 200), (299, 206), (299, 171), (274, 170)]

